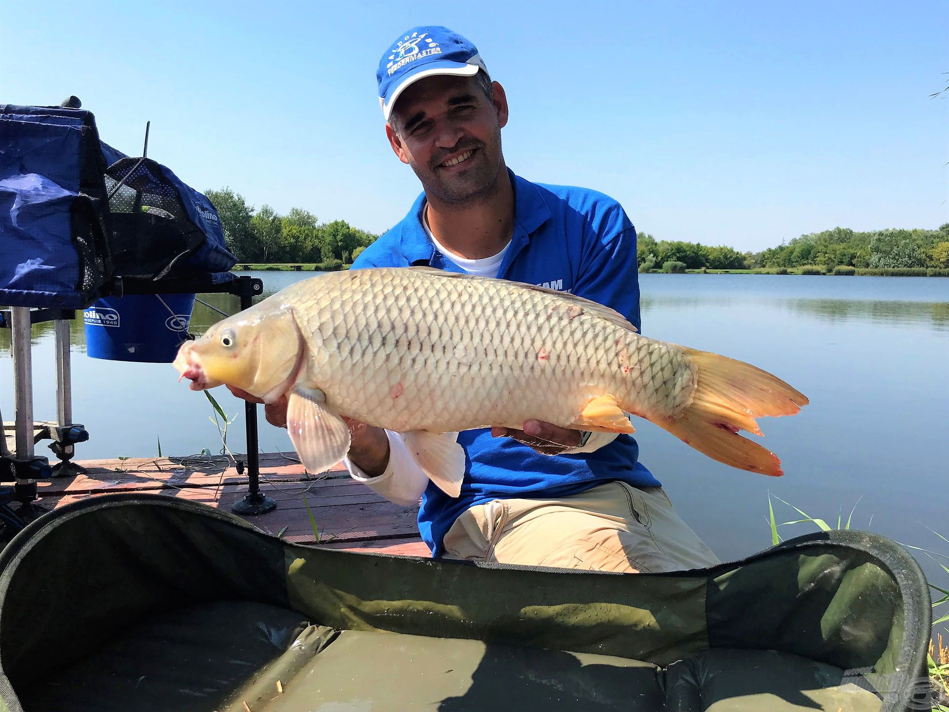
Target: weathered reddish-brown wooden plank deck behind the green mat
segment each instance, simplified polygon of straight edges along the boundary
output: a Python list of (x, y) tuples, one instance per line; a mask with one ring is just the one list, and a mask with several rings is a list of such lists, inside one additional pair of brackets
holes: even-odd
[[(429, 556), (419, 538), (418, 507), (386, 501), (342, 469), (309, 476), (294, 453), (260, 456), (260, 492), (277, 508), (266, 515), (244, 516), (254, 526), (288, 541), (316, 541), (307, 514), (313, 513), (320, 545), (333, 549)], [(243, 456), (235, 455), (237, 459)], [(84, 476), (52, 478), (37, 485), (39, 504), (59, 507), (86, 497), (142, 492), (184, 497), (231, 511), (248, 493), (247, 474), (238, 475), (223, 458), (139, 458), (77, 460)], [(227, 465), (227, 466), (225, 466)]]

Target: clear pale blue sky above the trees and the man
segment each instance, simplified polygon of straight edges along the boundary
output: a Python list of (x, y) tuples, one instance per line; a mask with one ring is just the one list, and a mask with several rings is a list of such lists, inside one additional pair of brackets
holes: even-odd
[(623, 202), (658, 238), (760, 250), (949, 221), (949, 3), (15, 3), (0, 103), (79, 96), (102, 139), (199, 190), (381, 232), (420, 186), (375, 70), (454, 28), (504, 84), (505, 157)]

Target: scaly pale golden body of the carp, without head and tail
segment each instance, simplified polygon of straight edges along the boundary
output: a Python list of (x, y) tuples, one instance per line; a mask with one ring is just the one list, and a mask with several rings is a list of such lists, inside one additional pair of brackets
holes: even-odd
[(403, 269), (320, 280), (319, 290), (306, 280), (283, 293), (307, 340), (302, 377), (363, 422), (435, 432), (531, 418), (569, 426), (605, 394), (651, 418), (689, 402), (694, 373), (680, 350), (565, 295)]

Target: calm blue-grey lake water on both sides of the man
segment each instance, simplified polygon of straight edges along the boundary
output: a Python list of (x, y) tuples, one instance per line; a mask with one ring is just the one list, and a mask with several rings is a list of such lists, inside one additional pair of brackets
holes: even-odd
[[(309, 276), (252, 274), (264, 280), (266, 293)], [(857, 505), (855, 528), (949, 554), (949, 544), (927, 529), (949, 536), (949, 279), (644, 274), (641, 286), (646, 336), (750, 362), (810, 399), (797, 416), (759, 421), (763, 444), (782, 460), (782, 478), (719, 464), (635, 419), (643, 463), (719, 557), (734, 559), (770, 544), (769, 492), (831, 526)], [(238, 309), (236, 297), (201, 298), (228, 313)], [(196, 305), (193, 330), (218, 319)], [(34, 326), (33, 335), (35, 415), (53, 420), (52, 325)], [(210, 404), (177, 384), (171, 365), (89, 358), (81, 320), (72, 343), (74, 419), (90, 433), (77, 446), (79, 459), (154, 456), (159, 438), (165, 455), (220, 449)], [(243, 451), (242, 402), (222, 388), (214, 394), (225, 411), (238, 414), (229, 442)], [(7, 329), (0, 329), (0, 410), (12, 420)], [(261, 448), (292, 449), (287, 432), (271, 427), (258, 410)], [(37, 452), (50, 455), (45, 443)], [(778, 521), (800, 518), (781, 502), (774, 505)], [(779, 532), (789, 537), (812, 529), (798, 524)], [(917, 557), (946, 588), (949, 577), (940, 567)]]

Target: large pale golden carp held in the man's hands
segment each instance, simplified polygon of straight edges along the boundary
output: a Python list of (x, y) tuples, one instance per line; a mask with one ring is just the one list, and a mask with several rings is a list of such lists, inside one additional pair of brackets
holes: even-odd
[(344, 459), (340, 416), (402, 433), (457, 497), (456, 433), (528, 420), (632, 433), (655, 422), (710, 458), (780, 475), (737, 435), (808, 399), (753, 365), (639, 335), (613, 309), (507, 280), (431, 268), (330, 272), (296, 282), (180, 348), (195, 390), (230, 384), (288, 399), (288, 433), (309, 472)]

